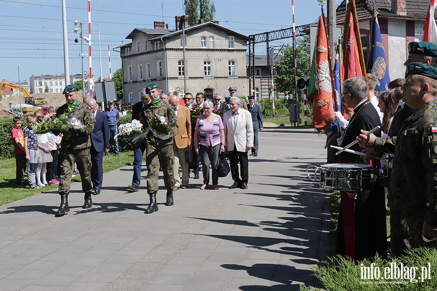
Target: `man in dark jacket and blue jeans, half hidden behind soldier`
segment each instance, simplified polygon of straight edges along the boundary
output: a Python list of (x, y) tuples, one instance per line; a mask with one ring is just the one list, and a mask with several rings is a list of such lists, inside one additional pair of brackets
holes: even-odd
[[(146, 88), (141, 91), (141, 101), (136, 102), (132, 106), (132, 120), (141, 120), (140, 112), (143, 107), (150, 103), (149, 94), (146, 93)], [(131, 144), (131, 147), (134, 147)], [(128, 186), (129, 191), (139, 191), (139, 186), (141, 184), (141, 165), (143, 164), (143, 154), (146, 150), (146, 143), (141, 143), (140, 146), (134, 147), (134, 176), (132, 177), (132, 184)]]

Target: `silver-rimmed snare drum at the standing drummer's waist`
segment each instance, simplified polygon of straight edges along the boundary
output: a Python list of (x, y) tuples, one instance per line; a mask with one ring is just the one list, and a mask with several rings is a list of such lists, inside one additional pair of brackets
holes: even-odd
[[(315, 168), (314, 179), (308, 174), (311, 167)], [(330, 163), (306, 168), (306, 174), (312, 181), (316, 180), (317, 173), (321, 189), (354, 192), (373, 187), (373, 168), (368, 164)]]

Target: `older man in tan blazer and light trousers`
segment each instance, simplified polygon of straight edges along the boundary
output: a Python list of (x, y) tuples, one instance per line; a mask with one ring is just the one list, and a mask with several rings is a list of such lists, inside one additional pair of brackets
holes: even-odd
[[(179, 188), (186, 189), (189, 182), (190, 171), (188, 162), (185, 160), (185, 148), (187, 146), (191, 147), (191, 116), (190, 110), (187, 107), (179, 105), (179, 97), (172, 95), (168, 101), (176, 114), (178, 119), (177, 125), (179, 127), (173, 137), (173, 191), (177, 191)], [(179, 176), (179, 165), (181, 165), (182, 169), (182, 182), (181, 177)]]

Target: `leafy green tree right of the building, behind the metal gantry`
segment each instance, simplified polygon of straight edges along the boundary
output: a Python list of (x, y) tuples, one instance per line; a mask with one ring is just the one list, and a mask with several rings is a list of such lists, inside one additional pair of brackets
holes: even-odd
[[(296, 41), (298, 79), (309, 79), (310, 74), (310, 39), (309, 36)], [(276, 90), (296, 96), (296, 79), (293, 46), (284, 46), (280, 50), (281, 61), (275, 64), (277, 75), (274, 77)]]

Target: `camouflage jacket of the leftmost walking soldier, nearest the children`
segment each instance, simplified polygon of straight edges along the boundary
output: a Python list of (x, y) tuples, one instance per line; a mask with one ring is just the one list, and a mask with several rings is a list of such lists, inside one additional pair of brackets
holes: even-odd
[(70, 112), (68, 110), (67, 103), (62, 105), (56, 110), (56, 117), (67, 113), (70, 116), (77, 116), (82, 124), (85, 126), (84, 129), (81, 130), (81, 133), (71, 133), (67, 132), (64, 134), (62, 138), (61, 147), (68, 149), (81, 149), (87, 148), (91, 146), (91, 132), (94, 130), (94, 114), (89, 109), (88, 105), (83, 102), (77, 101), (76, 106)]

